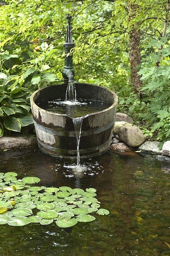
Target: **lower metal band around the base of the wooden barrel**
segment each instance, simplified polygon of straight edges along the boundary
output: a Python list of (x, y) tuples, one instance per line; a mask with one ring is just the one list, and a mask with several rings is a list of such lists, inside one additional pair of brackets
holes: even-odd
[[(107, 142), (101, 144), (100, 146), (93, 147), (93, 148), (87, 148), (87, 149), (81, 149), (81, 150), (79, 150), (79, 152), (80, 152), (80, 154), (86, 154), (86, 153), (90, 153), (90, 152), (93, 152), (93, 151), (96, 151), (96, 150), (105, 149), (105, 147), (108, 147), (110, 145), (110, 143), (111, 143), (111, 138), (109, 138), (109, 140)], [(45, 143), (43, 143), (39, 139), (38, 139), (38, 144), (40, 146), (42, 146), (43, 148), (46, 148), (47, 150), (50, 150), (52, 152), (61, 153), (61, 156), (68, 155), (68, 154), (70, 154), (70, 155), (77, 154), (77, 150), (67, 150), (67, 149), (61, 149), (61, 148), (54, 148), (54, 147), (51, 147), (49, 145), (46, 145)]]

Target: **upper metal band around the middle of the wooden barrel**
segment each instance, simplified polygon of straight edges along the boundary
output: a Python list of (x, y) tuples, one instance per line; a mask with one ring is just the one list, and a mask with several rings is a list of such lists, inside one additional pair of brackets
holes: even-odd
[[(100, 128), (95, 128), (95, 129), (87, 130), (87, 131), (81, 131), (81, 136), (89, 136), (89, 135), (94, 135), (94, 134), (104, 132), (104, 131), (108, 130), (109, 128), (111, 128), (113, 126), (114, 122), (115, 122), (115, 118), (112, 122), (110, 122), (109, 124), (102, 126)], [(75, 131), (54, 130), (54, 129), (42, 126), (41, 124), (38, 124), (35, 120), (34, 120), (34, 125), (36, 126), (36, 128), (38, 128), (48, 134), (63, 136), (63, 137), (75, 137)]]

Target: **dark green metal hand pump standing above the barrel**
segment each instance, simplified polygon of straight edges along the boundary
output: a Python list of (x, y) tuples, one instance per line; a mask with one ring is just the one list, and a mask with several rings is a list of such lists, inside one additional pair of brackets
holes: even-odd
[(63, 44), (65, 51), (65, 65), (63, 68), (63, 78), (64, 83), (68, 84), (68, 82), (74, 82), (74, 70), (73, 70), (73, 54), (71, 49), (75, 47), (75, 43), (72, 40), (71, 34), (71, 16), (67, 15), (67, 37), (66, 41)]

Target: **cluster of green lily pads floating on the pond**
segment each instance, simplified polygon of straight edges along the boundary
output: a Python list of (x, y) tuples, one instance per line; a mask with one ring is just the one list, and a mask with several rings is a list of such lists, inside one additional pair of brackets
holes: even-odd
[[(55, 221), (57, 226), (68, 228), (77, 222), (91, 222), (90, 215), (108, 215), (100, 208), (95, 188), (59, 188), (35, 186), (37, 177), (17, 180), (16, 172), (0, 173), (0, 224), (24, 226), (30, 223), (47, 225)], [(100, 208), (100, 209), (99, 209)]]

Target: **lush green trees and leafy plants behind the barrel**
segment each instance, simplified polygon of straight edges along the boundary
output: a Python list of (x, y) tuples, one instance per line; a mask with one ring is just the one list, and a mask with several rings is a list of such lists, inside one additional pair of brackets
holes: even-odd
[[(3, 2), (3, 1), (1, 1)], [(76, 81), (108, 87), (152, 139), (170, 136), (169, 0), (5, 0), (0, 7), (0, 136), (28, 132), (30, 95), (62, 82), (66, 14)]]

